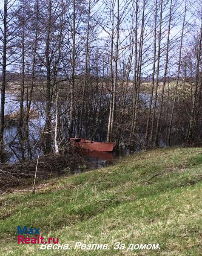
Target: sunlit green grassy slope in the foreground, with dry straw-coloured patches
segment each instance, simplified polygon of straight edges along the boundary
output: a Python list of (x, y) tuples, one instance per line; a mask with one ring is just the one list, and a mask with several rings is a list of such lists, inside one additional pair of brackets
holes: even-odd
[[(0, 255), (202, 255), (200, 148), (148, 151), (116, 166), (0, 198)], [(39, 250), (17, 245), (17, 226), (40, 227), (60, 244), (159, 243), (160, 250)]]

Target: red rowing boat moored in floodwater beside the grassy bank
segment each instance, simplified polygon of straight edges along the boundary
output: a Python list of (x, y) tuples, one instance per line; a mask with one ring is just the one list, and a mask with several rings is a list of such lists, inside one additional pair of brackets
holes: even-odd
[(84, 140), (80, 138), (70, 138), (70, 142), (77, 148), (85, 148), (87, 150), (111, 152), (113, 151), (113, 143), (96, 142), (92, 140)]

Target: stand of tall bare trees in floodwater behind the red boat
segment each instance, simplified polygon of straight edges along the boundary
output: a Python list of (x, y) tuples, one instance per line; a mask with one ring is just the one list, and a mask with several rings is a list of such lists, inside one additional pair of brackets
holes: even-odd
[(59, 154), (76, 136), (202, 143), (199, 0), (4, 0), (0, 66), (2, 161), (8, 148)]

